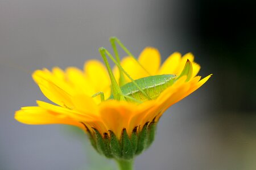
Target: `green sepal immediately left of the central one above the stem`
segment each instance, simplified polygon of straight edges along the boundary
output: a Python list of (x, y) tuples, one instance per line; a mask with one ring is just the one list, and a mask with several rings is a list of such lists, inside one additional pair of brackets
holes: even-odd
[(112, 155), (114, 156), (114, 158), (121, 158), (122, 152), (121, 152), (120, 142), (118, 141), (117, 137), (115, 136), (112, 130), (109, 130), (109, 133), (110, 133), (110, 143), (109, 143), (110, 151), (112, 152)]

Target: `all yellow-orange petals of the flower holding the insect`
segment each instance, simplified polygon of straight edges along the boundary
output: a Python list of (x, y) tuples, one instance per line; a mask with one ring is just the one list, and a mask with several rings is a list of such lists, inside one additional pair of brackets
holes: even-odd
[[(131, 137), (133, 131), (142, 131), (148, 122), (157, 122), (164, 111), (202, 86), (211, 75), (204, 79), (196, 76), (200, 66), (194, 62), (191, 53), (181, 56), (180, 53), (171, 54), (160, 65), (160, 54), (155, 48), (146, 48), (138, 58), (139, 63), (132, 57), (126, 57), (121, 65), (133, 78), (139, 79), (150, 75), (176, 74), (179, 77), (186, 61), (192, 63), (192, 76), (181, 76), (172, 86), (168, 87), (154, 100), (134, 103), (117, 100), (100, 100), (100, 97), (91, 97), (97, 92), (104, 92), (106, 99), (111, 94), (111, 82), (106, 67), (96, 60), (85, 63), (84, 70), (68, 67), (65, 71), (54, 67), (36, 70), (32, 77), (43, 94), (53, 104), (37, 101), (37, 107), (23, 107), (15, 113), (15, 119), (24, 124), (68, 124), (78, 126), (102, 136), (114, 133), (121, 139), (123, 129)], [(119, 73), (114, 68), (115, 77)], [(148, 73), (147, 73), (148, 72)], [(200, 80), (201, 79), (201, 80)], [(126, 82), (130, 82), (126, 77)], [(96, 129), (96, 130), (95, 130)]]

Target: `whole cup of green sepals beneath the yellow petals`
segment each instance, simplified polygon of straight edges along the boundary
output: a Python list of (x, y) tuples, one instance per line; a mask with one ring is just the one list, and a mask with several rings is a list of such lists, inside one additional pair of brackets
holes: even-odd
[(156, 122), (154, 120), (147, 122), (142, 129), (135, 127), (130, 136), (126, 129), (123, 129), (119, 139), (111, 130), (109, 133), (101, 134), (97, 129), (92, 129), (95, 133), (87, 129), (89, 139), (100, 154), (116, 160), (132, 160), (135, 155), (141, 154), (154, 141)]

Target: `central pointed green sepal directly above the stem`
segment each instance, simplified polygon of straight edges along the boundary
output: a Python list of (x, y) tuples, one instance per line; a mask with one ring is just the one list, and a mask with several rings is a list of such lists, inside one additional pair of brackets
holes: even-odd
[(129, 135), (127, 134), (126, 129), (123, 129), (122, 131), (121, 142), (122, 142), (122, 158), (132, 159), (134, 156), (133, 144), (131, 143), (131, 140), (129, 138)]

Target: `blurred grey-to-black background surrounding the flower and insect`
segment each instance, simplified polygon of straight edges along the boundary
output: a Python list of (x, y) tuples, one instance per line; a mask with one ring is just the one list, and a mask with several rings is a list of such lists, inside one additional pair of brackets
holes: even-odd
[[(117, 36), (137, 56), (192, 52), (213, 77), (160, 119), (135, 169), (256, 169), (255, 3), (203, 0), (0, 0), (0, 169), (114, 169), (82, 131), (31, 126), (14, 112), (48, 101), (32, 71), (82, 69)], [(247, 21), (249, 19), (249, 21)]]

